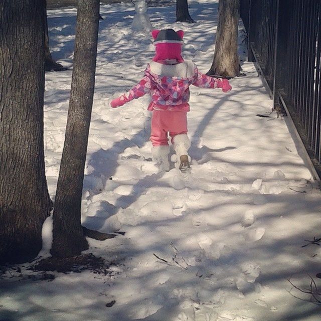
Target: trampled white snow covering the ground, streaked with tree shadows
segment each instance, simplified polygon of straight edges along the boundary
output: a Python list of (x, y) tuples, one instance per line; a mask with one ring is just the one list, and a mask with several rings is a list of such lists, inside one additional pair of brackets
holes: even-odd
[[(213, 58), (218, 1), (190, 3), (198, 23), (174, 23), (175, 6), (148, 9), (152, 28), (185, 31), (183, 56), (206, 73)], [(113, 239), (88, 239), (110, 274), (55, 273), (52, 281), (0, 279), (1, 320), (279, 321), (320, 319), (300, 288), (320, 271), (321, 195), (254, 65), (233, 90), (191, 88), (192, 167), (158, 173), (148, 141), (148, 97), (112, 109), (153, 56), (131, 31), (131, 4), (101, 6), (96, 88), (82, 200), (82, 223)], [(76, 10), (49, 11), (53, 56), (72, 66)], [(240, 26), (242, 29), (242, 26)], [(55, 197), (71, 71), (46, 74), (45, 153)], [(256, 116), (269, 115), (269, 118)], [(173, 152), (173, 151), (172, 151)], [(52, 218), (43, 227), (49, 255)], [(158, 257), (158, 258), (157, 258)], [(20, 265), (23, 275), (35, 272)], [(19, 274), (19, 273), (18, 273)], [(321, 288), (320, 280), (314, 278)], [(298, 299), (296, 297), (301, 298)], [(305, 300), (302, 300), (305, 299)], [(109, 304), (112, 301), (115, 304)], [(112, 305), (112, 306), (106, 306)]]

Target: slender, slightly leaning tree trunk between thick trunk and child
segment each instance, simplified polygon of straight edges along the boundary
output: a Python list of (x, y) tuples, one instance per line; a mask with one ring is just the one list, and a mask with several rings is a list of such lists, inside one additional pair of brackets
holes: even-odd
[(95, 86), (98, 22), (99, 0), (78, 0), (71, 94), (53, 215), (54, 257), (76, 256), (88, 248), (80, 210)]

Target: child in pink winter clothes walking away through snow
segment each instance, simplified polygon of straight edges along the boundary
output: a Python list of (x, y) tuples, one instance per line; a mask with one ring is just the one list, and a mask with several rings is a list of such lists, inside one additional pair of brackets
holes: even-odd
[(152, 111), (151, 134), (152, 157), (161, 171), (169, 171), (168, 133), (177, 155), (181, 171), (189, 169), (188, 149), (191, 146), (187, 136), (187, 112), (190, 110), (190, 85), (201, 88), (232, 89), (227, 79), (216, 79), (200, 73), (192, 61), (184, 61), (182, 44), (184, 32), (173, 29), (153, 30), (156, 54), (147, 65), (144, 77), (127, 93), (111, 101), (113, 108), (150, 94), (148, 110)]

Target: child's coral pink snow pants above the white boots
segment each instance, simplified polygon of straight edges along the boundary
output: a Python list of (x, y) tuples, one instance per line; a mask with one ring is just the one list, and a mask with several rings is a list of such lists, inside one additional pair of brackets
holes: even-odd
[(173, 137), (187, 133), (187, 112), (153, 110), (150, 140), (153, 146), (168, 145), (168, 133)]

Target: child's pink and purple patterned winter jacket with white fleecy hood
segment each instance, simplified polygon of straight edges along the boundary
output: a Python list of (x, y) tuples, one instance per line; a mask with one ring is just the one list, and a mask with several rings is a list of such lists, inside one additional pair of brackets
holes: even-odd
[(220, 80), (200, 73), (192, 61), (167, 65), (152, 61), (144, 77), (125, 97), (128, 101), (150, 94), (148, 110), (189, 111), (190, 85), (217, 88)]

